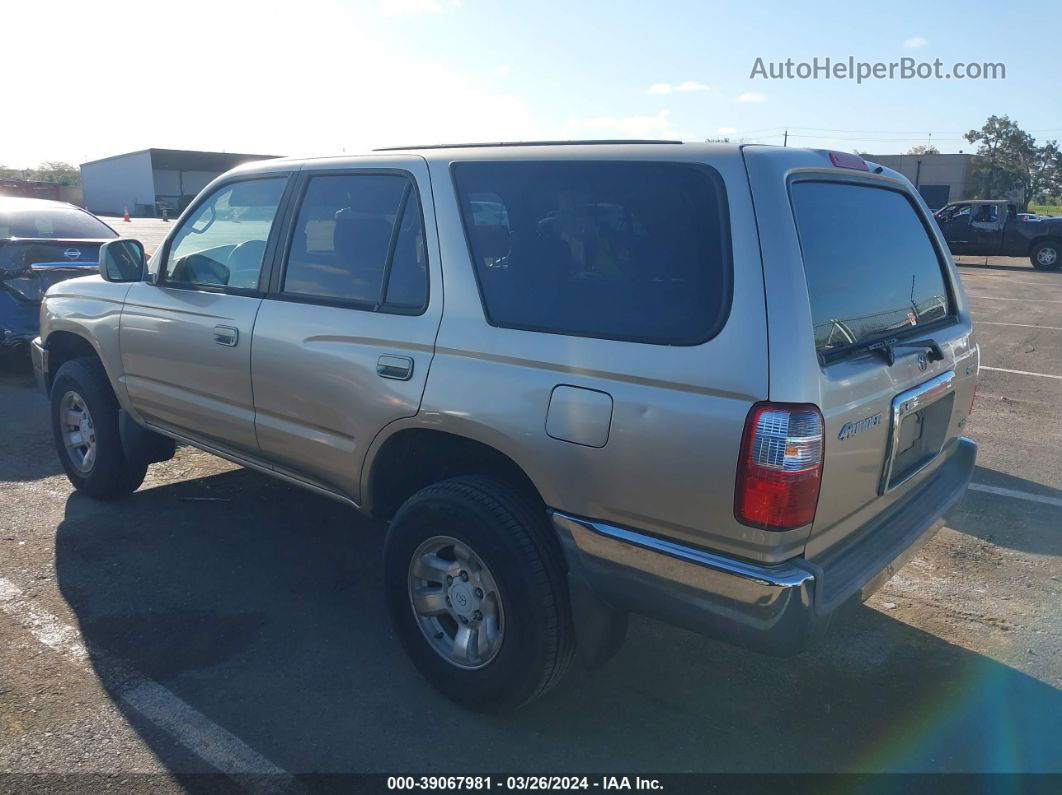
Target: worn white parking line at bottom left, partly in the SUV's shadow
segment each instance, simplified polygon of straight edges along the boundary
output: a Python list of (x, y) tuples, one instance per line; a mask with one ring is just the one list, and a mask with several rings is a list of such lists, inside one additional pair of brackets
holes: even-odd
[[(86, 664), (88, 650), (78, 630), (39, 607), (4, 577), (0, 577), (0, 612), (13, 618), (39, 643), (80, 666)], [(264, 787), (276, 792), (302, 789), (287, 771), (157, 681), (99, 652), (93, 652), (93, 656), (114, 672), (116, 681), (123, 682), (116, 701), (166, 731), (215, 770), (226, 775), (262, 776), (262, 780), (256, 781), (256, 789)]]

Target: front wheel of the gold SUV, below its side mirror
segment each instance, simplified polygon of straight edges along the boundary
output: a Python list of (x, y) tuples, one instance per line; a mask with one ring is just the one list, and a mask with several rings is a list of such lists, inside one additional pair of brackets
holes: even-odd
[(132, 464), (122, 451), (118, 399), (103, 365), (73, 359), (55, 374), (51, 392), (55, 451), (79, 491), (109, 500), (136, 491), (147, 464)]

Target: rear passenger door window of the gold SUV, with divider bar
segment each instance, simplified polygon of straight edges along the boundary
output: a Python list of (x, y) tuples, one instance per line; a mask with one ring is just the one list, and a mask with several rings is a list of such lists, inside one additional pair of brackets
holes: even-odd
[(397, 174), (311, 177), (282, 291), (373, 308), (421, 309), (428, 257), (413, 184)]

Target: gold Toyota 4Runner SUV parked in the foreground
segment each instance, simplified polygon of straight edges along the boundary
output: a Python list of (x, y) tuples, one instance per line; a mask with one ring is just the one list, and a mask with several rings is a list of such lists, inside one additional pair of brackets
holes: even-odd
[(34, 344), (73, 485), (127, 495), (179, 440), (376, 517), (398, 638), (476, 709), (601, 664), (632, 611), (798, 652), (974, 466), (955, 265), (910, 183), (854, 155), (269, 160), (150, 261), (101, 257)]

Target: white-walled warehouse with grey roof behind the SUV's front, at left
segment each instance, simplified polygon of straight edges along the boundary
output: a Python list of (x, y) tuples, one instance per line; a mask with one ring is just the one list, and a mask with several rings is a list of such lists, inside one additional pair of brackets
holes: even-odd
[(145, 149), (81, 165), (85, 207), (100, 215), (179, 213), (211, 179), (240, 163), (276, 155)]

